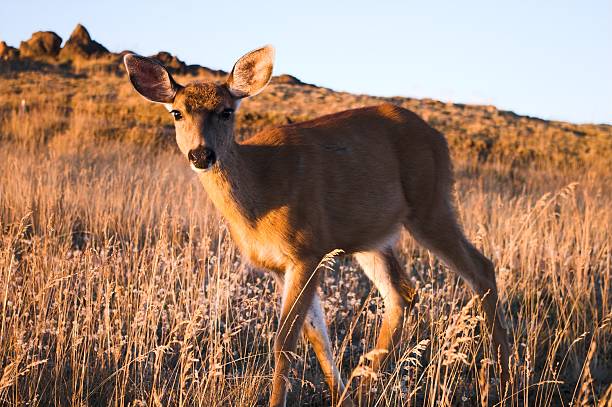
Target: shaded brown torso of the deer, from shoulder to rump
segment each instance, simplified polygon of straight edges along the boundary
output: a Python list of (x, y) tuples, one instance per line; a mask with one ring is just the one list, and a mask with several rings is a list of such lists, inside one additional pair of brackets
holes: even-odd
[(284, 213), (266, 230), (322, 254), (380, 245), (450, 182), (443, 136), (388, 104), (266, 130), (241, 148), (258, 168), (261, 199)]

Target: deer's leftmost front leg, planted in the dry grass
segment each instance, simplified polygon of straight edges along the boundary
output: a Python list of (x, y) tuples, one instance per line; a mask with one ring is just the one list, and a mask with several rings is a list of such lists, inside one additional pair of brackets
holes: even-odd
[(270, 406), (284, 406), (292, 355), (318, 285), (318, 260), (304, 261), (285, 272), (279, 328), (274, 341), (274, 375)]

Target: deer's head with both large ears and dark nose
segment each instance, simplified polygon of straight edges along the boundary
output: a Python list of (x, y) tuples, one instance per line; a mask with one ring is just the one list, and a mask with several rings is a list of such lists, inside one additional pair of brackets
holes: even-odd
[(174, 117), (176, 142), (201, 172), (223, 160), (234, 143), (234, 112), (240, 99), (256, 95), (272, 77), (274, 48), (266, 46), (244, 55), (227, 81), (178, 84), (163, 65), (135, 54), (124, 57), (132, 85), (146, 99), (162, 103)]

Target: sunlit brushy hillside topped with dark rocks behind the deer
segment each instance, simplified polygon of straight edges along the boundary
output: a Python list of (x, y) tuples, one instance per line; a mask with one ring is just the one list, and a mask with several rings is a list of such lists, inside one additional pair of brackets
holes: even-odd
[[(61, 38), (39, 32), (19, 49), (0, 44), (0, 137), (30, 140), (22, 129), (7, 127), (7, 117), (25, 104), (28, 112), (41, 108), (62, 114), (49, 117), (54, 126), (47, 140), (62, 133), (76, 115), (86, 114), (99, 127), (96, 136), (140, 139), (151, 143), (172, 133), (163, 109), (143, 104), (125, 80), (122, 55), (109, 52), (78, 25), (63, 47)], [(226, 72), (188, 65), (169, 52), (153, 55), (179, 81), (223, 80)], [(226, 67), (230, 68), (230, 67)], [(526, 95), (528, 97), (528, 95)], [(453, 153), (478, 162), (504, 162), (512, 166), (603, 166), (612, 161), (612, 126), (577, 125), (519, 116), (494, 106), (442, 103), (407, 97), (382, 98), (335, 92), (302, 83), (290, 75), (274, 77), (272, 85), (239, 111), (243, 136), (269, 125), (310, 119), (326, 113), (382, 102), (411, 109), (449, 139)], [(106, 119), (112, 115), (113, 121)], [(46, 126), (46, 123), (40, 123)]]

